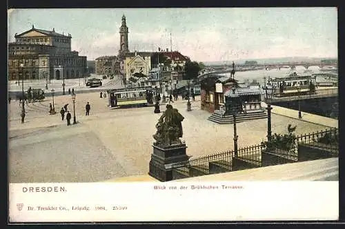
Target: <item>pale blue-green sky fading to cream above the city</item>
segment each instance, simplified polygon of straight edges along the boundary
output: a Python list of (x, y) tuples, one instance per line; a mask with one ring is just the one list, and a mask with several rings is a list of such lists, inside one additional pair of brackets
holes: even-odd
[(88, 60), (119, 51), (126, 16), (130, 51), (172, 50), (192, 61), (337, 57), (336, 8), (15, 9), (8, 42), (34, 28), (72, 35)]

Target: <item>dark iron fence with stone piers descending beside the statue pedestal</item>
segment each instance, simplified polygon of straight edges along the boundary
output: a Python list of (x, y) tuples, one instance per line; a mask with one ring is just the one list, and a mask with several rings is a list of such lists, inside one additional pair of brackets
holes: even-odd
[(172, 164), (172, 179), (198, 177), (220, 172), (231, 172), (283, 163), (310, 161), (338, 157), (339, 130), (331, 128), (294, 137), (286, 148), (284, 144), (267, 146), (261, 143), (235, 150), (227, 150), (214, 155), (190, 158)]

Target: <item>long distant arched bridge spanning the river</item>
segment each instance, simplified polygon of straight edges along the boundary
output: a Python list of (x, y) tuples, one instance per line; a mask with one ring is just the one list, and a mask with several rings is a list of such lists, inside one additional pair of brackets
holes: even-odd
[[(248, 71), (248, 70), (260, 70), (260, 69), (266, 69), (266, 70), (270, 70), (270, 69), (281, 69), (284, 67), (290, 68), (292, 70), (295, 70), (296, 66), (303, 66), (304, 68), (308, 69), (311, 66), (317, 66), (319, 68), (324, 68), (326, 66), (330, 66), (330, 67), (338, 67), (337, 63), (322, 63), (321, 61), (319, 62), (308, 62), (308, 61), (304, 61), (304, 62), (285, 62), (285, 63), (258, 63), (255, 65), (248, 65), (248, 64), (236, 64), (235, 66), (235, 70), (237, 72), (241, 72), (241, 71)], [(228, 73), (231, 72), (232, 67), (230, 66), (214, 66), (214, 67), (209, 67), (208, 69), (213, 69), (213, 70), (207, 70), (203, 72), (202, 74), (199, 74), (199, 77), (204, 76), (207, 77), (208, 74), (224, 74), (224, 73)]]

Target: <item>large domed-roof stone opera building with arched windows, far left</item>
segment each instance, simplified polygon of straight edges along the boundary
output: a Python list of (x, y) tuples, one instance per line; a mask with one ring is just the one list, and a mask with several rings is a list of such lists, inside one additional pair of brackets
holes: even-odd
[(8, 44), (8, 79), (17, 80), (23, 63), (24, 79), (65, 79), (85, 77), (86, 57), (71, 50), (71, 35), (53, 28), (34, 28), (15, 34)]

